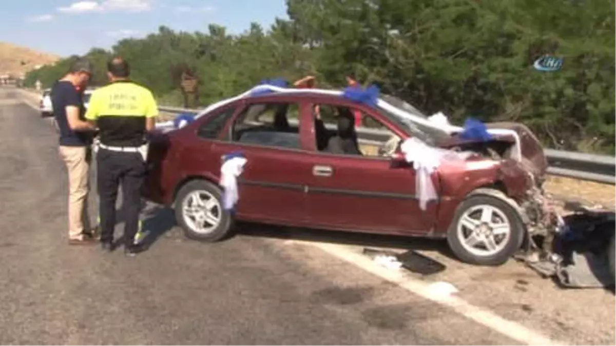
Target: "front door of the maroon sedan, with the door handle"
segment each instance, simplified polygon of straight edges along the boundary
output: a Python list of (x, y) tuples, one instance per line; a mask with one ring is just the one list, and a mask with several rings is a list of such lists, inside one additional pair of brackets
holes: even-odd
[[(326, 148), (318, 150), (315, 143), (311, 145), (314, 153), (310, 156), (312, 174), (307, 194), (310, 222), (315, 227), (351, 231), (428, 233), (434, 225), (438, 204), (431, 202), (425, 211), (419, 209), (413, 168), (408, 164), (392, 167), (391, 157), (378, 153), (378, 147), (391, 139), (391, 135), (404, 139), (405, 132), (365, 105), (328, 97), (315, 100), (310, 107), (317, 104), (322, 120), (329, 123), (330, 132), (336, 126), (331, 113), (336, 113), (339, 107), (348, 107), (354, 114), (362, 113), (363, 126), (357, 130), (363, 155), (336, 155), (328, 153)], [(394, 145), (392, 151), (396, 150), (399, 148)], [(439, 187), (435, 187), (438, 191)]]

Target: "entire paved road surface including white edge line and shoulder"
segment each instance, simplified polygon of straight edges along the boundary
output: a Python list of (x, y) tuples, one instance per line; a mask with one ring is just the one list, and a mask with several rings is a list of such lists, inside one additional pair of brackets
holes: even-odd
[[(561, 289), (513, 261), (464, 265), (442, 243), (245, 225), (201, 244), (180, 235), (168, 210), (148, 206), (153, 245), (139, 257), (69, 247), (67, 177), (36, 102), (0, 88), (0, 345), (616, 340), (611, 292)], [(398, 273), (363, 257), (365, 246), (418, 249), (447, 269)], [(439, 281), (455, 286), (455, 299), (426, 286)]]

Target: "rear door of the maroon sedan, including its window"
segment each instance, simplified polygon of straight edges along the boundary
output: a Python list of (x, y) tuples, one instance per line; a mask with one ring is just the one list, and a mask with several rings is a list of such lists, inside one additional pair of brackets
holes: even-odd
[(211, 146), (214, 157), (241, 151), (247, 159), (238, 184), (237, 215), (242, 219), (306, 222), (306, 180), (311, 175), (306, 158), (312, 153), (302, 148), (301, 126), (293, 121), (300, 110), (298, 102), (280, 97), (246, 100), (222, 139)]

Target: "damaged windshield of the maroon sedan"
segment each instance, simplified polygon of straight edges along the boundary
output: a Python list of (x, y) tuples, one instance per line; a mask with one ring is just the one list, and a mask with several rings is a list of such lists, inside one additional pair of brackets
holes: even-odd
[[(421, 111), (419, 111), (417, 108), (411, 106), (409, 103), (404, 102), (403, 100), (398, 99), (397, 97), (393, 97), (391, 95), (381, 95), (381, 100), (389, 103), (395, 108), (410, 113), (411, 115), (417, 116), (418, 118), (428, 119), (428, 116), (421, 113)], [(405, 129), (408, 129), (408, 131), (411, 135), (413, 135), (413, 137), (417, 137), (418, 139), (429, 145), (437, 145), (437, 143), (450, 137), (450, 135), (445, 131), (416, 123), (410, 118), (403, 118), (402, 116), (395, 115), (394, 113), (385, 110), (383, 107), (378, 108), (379, 110), (381, 110), (381, 112), (383, 112), (385, 116), (387, 116), (387, 118), (405, 127)]]

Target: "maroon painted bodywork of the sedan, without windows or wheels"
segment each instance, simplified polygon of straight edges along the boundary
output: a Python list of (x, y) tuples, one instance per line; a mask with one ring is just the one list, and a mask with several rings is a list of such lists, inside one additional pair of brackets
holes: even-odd
[[(301, 148), (272, 148), (227, 140), (231, 124), (241, 111), (255, 102), (295, 102), (299, 105)], [(171, 205), (182, 183), (206, 179), (217, 183), (221, 156), (241, 151), (247, 159), (240, 177), (238, 219), (280, 225), (299, 225), (334, 230), (396, 235), (443, 236), (456, 207), (479, 187), (498, 186), (514, 199), (522, 198), (525, 172), (511, 160), (474, 159), (466, 166), (443, 166), (433, 182), (439, 201), (426, 211), (419, 209), (415, 172), (409, 164), (367, 156), (332, 155), (318, 152), (312, 103), (359, 108), (404, 140), (410, 135), (378, 110), (330, 95), (270, 94), (237, 100), (224, 106), (235, 108), (217, 139), (202, 139), (197, 129), (211, 114), (167, 133), (158, 132), (150, 145), (150, 172), (144, 197)], [(331, 174), (315, 175), (326, 167)]]

